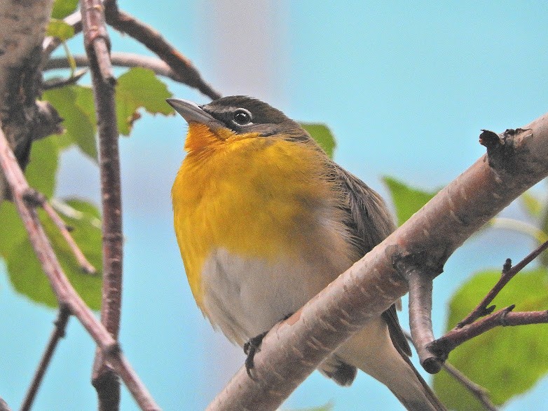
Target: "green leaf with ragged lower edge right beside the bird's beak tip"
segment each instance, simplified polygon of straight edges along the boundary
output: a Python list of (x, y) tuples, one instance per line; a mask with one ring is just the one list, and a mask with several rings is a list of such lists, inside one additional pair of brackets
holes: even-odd
[(122, 74), (116, 84), (116, 116), (120, 133), (130, 134), (134, 121), (140, 117), (137, 110), (141, 107), (151, 114), (172, 114), (172, 107), (165, 102), (171, 95), (152, 70), (134, 67)]

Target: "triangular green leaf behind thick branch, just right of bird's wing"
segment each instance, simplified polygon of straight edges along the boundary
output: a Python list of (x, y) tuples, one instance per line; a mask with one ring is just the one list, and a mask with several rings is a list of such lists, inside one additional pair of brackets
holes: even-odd
[(423, 191), (409, 187), (404, 182), (396, 180), (393, 177), (383, 177), (383, 182), (388, 187), (392, 196), (392, 203), (396, 208), (399, 226), (409, 220), (411, 215), (420, 210), (439, 191)]

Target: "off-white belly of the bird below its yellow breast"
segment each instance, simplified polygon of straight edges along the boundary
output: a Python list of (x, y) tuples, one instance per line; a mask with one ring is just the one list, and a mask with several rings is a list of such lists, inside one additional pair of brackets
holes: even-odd
[(268, 262), (220, 248), (203, 266), (205, 312), (228, 339), (242, 345), (293, 314), (351, 264), (325, 255)]

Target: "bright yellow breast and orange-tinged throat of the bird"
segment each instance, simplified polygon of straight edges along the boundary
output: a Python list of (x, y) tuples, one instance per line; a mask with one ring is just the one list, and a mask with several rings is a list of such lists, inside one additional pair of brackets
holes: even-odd
[(326, 158), (311, 145), (256, 135), (209, 137), (207, 128), (191, 124), (189, 154), (172, 188), (175, 234), (203, 310), (200, 274), (212, 250), (275, 260), (317, 247), (324, 239), (313, 234), (337, 218)]

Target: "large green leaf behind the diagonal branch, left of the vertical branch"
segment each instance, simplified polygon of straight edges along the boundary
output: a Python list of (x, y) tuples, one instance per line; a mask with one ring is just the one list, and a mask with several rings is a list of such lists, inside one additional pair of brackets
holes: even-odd
[[(100, 271), (102, 268), (101, 230), (97, 227), (97, 208), (81, 200), (70, 200), (67, 204), (75, 210), (71, 217), (64, 216), (64, 222), (73, 228), (71, 235), (91, 264)], [(64, 273), (72, 286), (91, 309), (100, 309), (102, 277), (100, 274), (89, 275), (81, 271), (67, 242), (39, 210), (40, 220), (57, 255)], [(22, 223), (19, 222), (21, 228)], [(46, 274), (43, 273), (34, 249), (25, 236), (14, 245), (6, 257), (8, 276), (13, 288), (32, 301), (50, 307), (57, 306), (57, 299), (50, 287)]]

